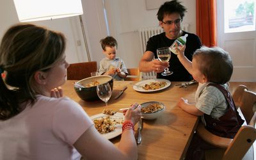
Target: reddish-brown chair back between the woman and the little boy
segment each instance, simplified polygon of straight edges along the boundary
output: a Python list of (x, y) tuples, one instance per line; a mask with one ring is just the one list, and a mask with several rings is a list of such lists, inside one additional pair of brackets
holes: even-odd
[(82, 63), (72, 63), (67, 68), (68, 80), (81, 80), (91, 77), (91, 72), (97, 71), (97, 61), (89, 61)]

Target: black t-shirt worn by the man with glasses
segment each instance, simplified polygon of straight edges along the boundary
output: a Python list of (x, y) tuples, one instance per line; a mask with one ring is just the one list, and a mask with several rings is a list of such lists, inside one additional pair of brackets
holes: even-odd
[[(200, 38), (193, 33), (188, 33), (183, 31), (182, 36), (188, 34), (186, 39), (186, 49), (185, 56), (188, 60), (192, 61), (192, 56), (196, 49), (199, 49), (202, 46)], [(165, 33), (160, 33), (159, 35), (154, 35), (149, 38), (147, 42), (146, 51), (154, 52), (155, 58), (157, 59), (156, 50), (161, 47), (170, 47), (175, 40), (170, 40), (165, 36)], [(172, 52), (171, 59), (169, 60), (170, 67), (169, 70), (173, 71), (173, 74), (170, 76), (162, 76), (161, 73), (157, 74), (157, 78), (168, 79), (170, 81), (191, 81), (193, 77), (189, 74), (186, 68), (180, 63), (177, 55)]]

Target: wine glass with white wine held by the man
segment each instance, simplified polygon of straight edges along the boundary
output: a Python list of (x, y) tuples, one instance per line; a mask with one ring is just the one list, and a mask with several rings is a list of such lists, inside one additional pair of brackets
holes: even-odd
[[(169, 47), (161, 47), (156, 50), (157, 51), (157, 57), (160, 61), (169, 61), (171, 58), (171, 51)], [(164, 72), (161, 73), (163, 76), (169, 76), (173, 74), (172, 70), (169, 70), (169, 68), (164, 68)]]

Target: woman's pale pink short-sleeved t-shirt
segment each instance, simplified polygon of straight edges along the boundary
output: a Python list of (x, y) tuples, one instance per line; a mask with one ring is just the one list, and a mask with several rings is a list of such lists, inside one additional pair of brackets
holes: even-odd
[(72, 145), (92, 125), (73, 100), (38, 95), (32, 107), (0, 121), (0, 159), (80, 159)]

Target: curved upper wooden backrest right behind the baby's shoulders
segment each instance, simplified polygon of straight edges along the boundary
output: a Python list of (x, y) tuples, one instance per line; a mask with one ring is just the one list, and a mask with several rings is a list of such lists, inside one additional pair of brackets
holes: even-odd
[(244, 85), (239, 85), (232, 97), (236, 106), (241, 109), (246, 124), (249, 124), (256, 109), (256, 93), (249, 91)]

